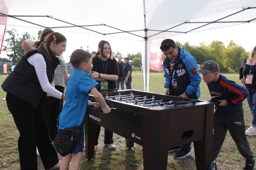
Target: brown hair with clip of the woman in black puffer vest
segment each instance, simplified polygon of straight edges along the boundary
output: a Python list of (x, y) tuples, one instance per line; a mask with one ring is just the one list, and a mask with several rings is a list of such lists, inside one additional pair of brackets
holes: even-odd
[(50, 54), (48, 52), (48, 49), (47, 49), (46, 45), (48, 45), (50, 47), (50, 43), (53, 42), (53, 41), (55, 41), (56, 43), (61, 43), (61, 42), (66, 41), (66, 37), (63, 36), (62, 34), (58, 33), (58, 32), (53, 32), (38, 47), (38, 48), (42, 48), (44, 51), (46, 51), (46, 53), (48, 54), (51, 62), (53, 62), (53, 60), (50, 57)]

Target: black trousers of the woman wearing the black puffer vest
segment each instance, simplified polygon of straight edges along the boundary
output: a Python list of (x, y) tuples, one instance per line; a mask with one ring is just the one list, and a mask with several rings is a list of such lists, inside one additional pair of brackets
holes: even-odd
[(43, 105), (37, 108), (7, 93), (7, 107), (20, 132), (18, 151), (21, 170), (37, 170), (38, 148), (43, 166), (46, 170), (58, 163), (58, 155), (49, 137), (49, 129), (43, 112)]

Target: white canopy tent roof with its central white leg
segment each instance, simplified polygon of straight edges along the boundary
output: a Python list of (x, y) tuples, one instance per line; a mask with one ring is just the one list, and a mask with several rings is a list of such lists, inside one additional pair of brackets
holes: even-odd
[[(4, 5), (7, 7), (7, 13), (1, 11)], [(0, 0), (0, 20), (3, 20), (2, 18), (7, 18), (6, 25), (49, 27), (141, 41), (144, 48), (144, 90), (149, 91), (150, 40), (238, 24), (244, 24), (246, 27), (248, 23), (256, 20), (256, 2)]]

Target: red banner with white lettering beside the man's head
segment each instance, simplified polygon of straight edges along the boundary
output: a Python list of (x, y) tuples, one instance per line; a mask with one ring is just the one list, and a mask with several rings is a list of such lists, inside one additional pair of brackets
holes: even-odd
[(165, 38), (159, 38), (155, 40), (151, 40), (151, 47), (150, 47), (150, 67), (149, 69), (161, 72), (162, 67), (162, 51), (160, 49), (161, 42)]

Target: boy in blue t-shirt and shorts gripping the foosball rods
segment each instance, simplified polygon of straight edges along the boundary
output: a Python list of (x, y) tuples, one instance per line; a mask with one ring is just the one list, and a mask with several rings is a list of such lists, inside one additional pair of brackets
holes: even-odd
[[(81, 125), (87, 105), (94, 104), (94, 108), (101, 107), (105, 114), (111, 112), (103, 96), (97, 90), (99, 83), (89, 75), (93, 67), (91, 54), (85, 50), (76, 49), (71, 54), (70, 62), (75, 69), (73, 74), (69, 76), (66, 87), (66, 102), (58, 119), (58, 129), (60, 130)], [(88, 100), (90, 92), (98, 103)], [(75, 149), (70, 154), (62, 157), (60, 169), (79, 169), (83, 157), (83, 148), (84, 135), (82, 135)], [(71, 159), (72, 162), (69, 166)]]

